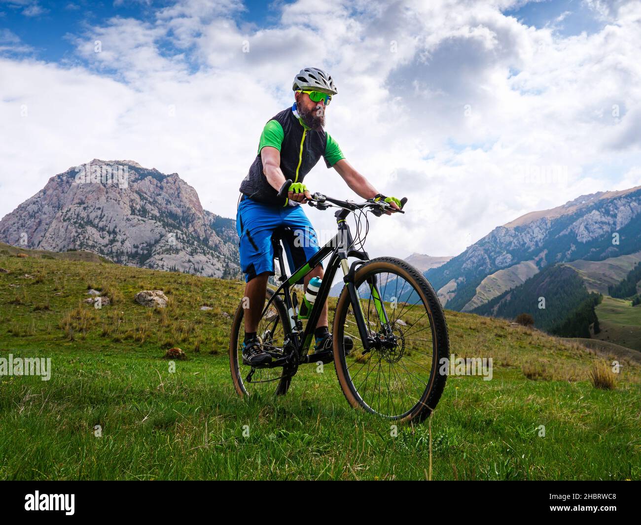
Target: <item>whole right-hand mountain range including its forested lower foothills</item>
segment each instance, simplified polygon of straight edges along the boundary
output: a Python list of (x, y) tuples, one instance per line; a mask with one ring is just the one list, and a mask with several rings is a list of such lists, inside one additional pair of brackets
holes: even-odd
[(625, 330), (613, 328), (612, 301), (599, 306), (598, 295), (640, 261), (641, 187), (635, 187), (527, 213), (425, 275), (451, 310), (508, 319), (529, 313), (537, 328), (557, 335), (620, 343), (601, 333), (602, 317), (606, 333), (626, 333), (625, 344), (641, 349), (641, 308), (629, 303)]

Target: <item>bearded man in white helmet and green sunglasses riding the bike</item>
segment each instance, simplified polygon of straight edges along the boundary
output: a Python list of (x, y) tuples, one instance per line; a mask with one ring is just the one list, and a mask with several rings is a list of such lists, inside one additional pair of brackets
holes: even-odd
[[(240, 237), (240, 267), (246, 274), (245, 296), (249, 299), (244, 315), (245, 338), (242, 349), (243, 361), (247, 365), (262, 365), (271, 361), (271, 355), (263, 350), (256, 330), (265, 305), (267, 279), (274, 275), (274, 250), (271, 244), (274, 229), (289, 228), (284, 232), (283, 244), (290, 271), (303, 265), (319, 250), (316, 233), (300, 204), (311, 198), (303, 179), (320, 157), (363, 199), (383, 199), (392, 208), (401, 207), (396, 197), (386, 197), (376, 191), (345, 160), (337, 142), (324, 130), (327, 106), (338, 93), (331, 76), (322, 69), (306, 67), (294, 77), (292, 90), (294, 104), (265, 124), (256, 158), (240, 185), (242, 195), (238, 203), (236, 227)], [(293, 183), (288, 197), (283, 199), (278, 197), (278, 192), (287, 179)], [(387, 213), (389, 215), (391, 212)], [(305, 276), (305, 289), (311, 278), (322, 276), (322, 265), (318, 265)], [(327, 302), (322, 308), (314, 338), (315, 352), (332, 349)]]

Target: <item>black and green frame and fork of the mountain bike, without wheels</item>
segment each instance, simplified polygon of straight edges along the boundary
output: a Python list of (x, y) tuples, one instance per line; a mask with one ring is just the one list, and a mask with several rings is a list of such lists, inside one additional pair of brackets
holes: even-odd
[[(281, 294), (284, 296), (285, 307), (287, 308), (290, 326), (292, 328), (291, 340), (299, 354), (299, 362), (301, 363), (311, 363), (316, 361), (313, 356), (308, 356), (307, 353), (310, 345), (312, 344), (313, 331), (319, 321), (322, 307), (329, 297), (331, 283), (335, 278), (338, 267), (341, 267), (344, 272), (343, 280), (347, 286), (347, 290), (349, 291), (349, 297), (353, 307), (354, 317), (356, 318), (356, 325), (358, 326), (358, 331), (362, 340), (363, 349), (367, 351), (374, 344), (374, 340), (370, 337), (369, 329), (365, 324), (365, 316), (363, 315), (358, 290), (354, 287), (354, 273), (356, 271), (356, 267), (367, 262), (369, 260), (369, 256), (367, 255), (367, 252), (358, 251), (351, 247), (353, 244), (353, 238), (349, 231), (349, 225), (345, 221), (347, 215), (349, 215), (349, 210), (338, 210), (335, 213), (338, 224), (337, 235), (329, 240), (327, 244), (322, 246), (316, 254), (314, 254), (306, 263), (299, 267), (292, 276), (289, 277), (285, 272), (283, 248), (280, 243), (280, 238), (272, 239), (274, 246), (274, 258), (278, 258), (279, 269), (281, 272), (281, 277), (279, 278), (281, 285), (278, 287), (276, 292), (274, 292), (271, 299), (267, 301), (267, 304), (265, 304), (262, 315), (265, 315), (271, 306), (272, 301), (274, 301), (274, 297)], [(305, 329), (301, 333), (302, 322), (297, 318), (296, 310), (294, 309), (294, 306), (296, 305), (292, 302), (291, 287), (293, 287), (297, 281), (312, 272), (312, 270), (328, 256), (329, 262), (326, 271), (324, 272), (322, 283), (320, 284), (316, 300), (312, 306), (312, 310), (310, 311)], [(351, 264), (351, 266), (348, 266), (347, 263), (347, 259), (349, 257), (357, 259)], [(378, 283), (372, 281), (369, 284), (372, 298), (374, 299), (374, 306), (378, 313), (379, 320), (381, 321), (381, 326), (388, 329), (387, 312), (385, 311), (383, 300), (379, 294)], [(275, 362), (272, 364), (274, 366), (279, 366), (282, 363)]]

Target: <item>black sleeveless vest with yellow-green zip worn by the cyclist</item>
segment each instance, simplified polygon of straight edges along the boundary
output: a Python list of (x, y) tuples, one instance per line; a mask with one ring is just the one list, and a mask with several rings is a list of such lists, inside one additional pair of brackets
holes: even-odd
[[(281, 111), (269, 120), (278, 121), (283, 128), (284, 137), (283, 144), (281, 144), (280, 168), (283, 171), (283, 175), (285, 175), (285, 179), (302, 182), (305, 175), (310, 172), (319, 162), (319, 158), (325, 153), (325, 147), (327, 146), (325, 131), (304, 129), (303, 125), (294, 116), (292, 108)], [(302, 152), (301, 142), (303, 142)], [(329, 167), (329, 164), (327, 166)], [(263, 174), (260, 152), (254, 158), (247, 176), (240, 184), (240, 192), (259, 203), (274, 204), (274, 206), (285, 205), (285, 199), (277, 197), (278, 190), (271, 187), (265, 174)]]

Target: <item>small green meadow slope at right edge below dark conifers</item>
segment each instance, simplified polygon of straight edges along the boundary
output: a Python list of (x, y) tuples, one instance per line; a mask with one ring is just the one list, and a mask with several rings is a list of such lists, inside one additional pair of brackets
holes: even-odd
[(604, 296), (595, 308), (601, 332), (595, 338), (641, 351), (641, 306), (628, 299)]

